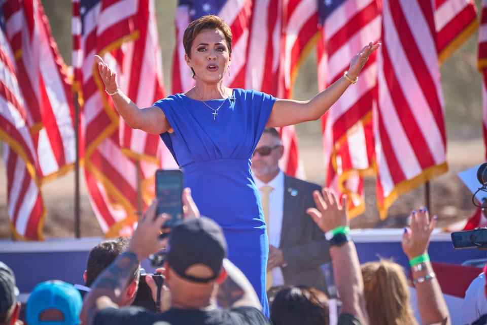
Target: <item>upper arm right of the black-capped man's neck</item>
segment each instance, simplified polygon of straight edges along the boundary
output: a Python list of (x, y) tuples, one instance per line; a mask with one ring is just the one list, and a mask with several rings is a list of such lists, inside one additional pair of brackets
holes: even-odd
[(227, 278), (218, 288), (218, 304), (224, 308), (250, 306), (262, 310), (254, 288), (242, 271), (226, 258), (223, 267)]

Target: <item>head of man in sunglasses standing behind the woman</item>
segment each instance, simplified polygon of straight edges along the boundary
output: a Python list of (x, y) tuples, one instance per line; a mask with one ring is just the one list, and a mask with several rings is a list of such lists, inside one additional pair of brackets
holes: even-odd
[(279, 174), (279, 159), (284, 154), (284, 146), (277, 130), (266, 127), (252, 155), (252, 173), (263, 182), (272, 180)]

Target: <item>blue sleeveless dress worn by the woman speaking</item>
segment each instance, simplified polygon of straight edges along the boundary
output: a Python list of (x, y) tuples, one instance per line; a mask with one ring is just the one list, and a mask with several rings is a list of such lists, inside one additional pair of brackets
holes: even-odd
[(206, 103), (184, 94), (154, 104), (174, 132), (161, 134), (184, 175), (185, 186), (201, 215), (223, 229), (228, 258), (247, 276), (269, 315), (265, 292), (268, 242), (260, 197), (250, 159), (276, 98), (254, 90), (234, 89), (234, 101)]

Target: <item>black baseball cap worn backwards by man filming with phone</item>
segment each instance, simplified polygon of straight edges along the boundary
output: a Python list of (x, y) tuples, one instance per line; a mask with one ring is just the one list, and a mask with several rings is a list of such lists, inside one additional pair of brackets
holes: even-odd
[[(169, 235), (166, 261), (180, 277), (199, 283), (215, 280), (223, 270), (227, 243), (220, 226), (206, 217), (192, 218), (178, 224)], [(204, 265), (213, 275), (206, 278), (187, 274), (193, 265)]]

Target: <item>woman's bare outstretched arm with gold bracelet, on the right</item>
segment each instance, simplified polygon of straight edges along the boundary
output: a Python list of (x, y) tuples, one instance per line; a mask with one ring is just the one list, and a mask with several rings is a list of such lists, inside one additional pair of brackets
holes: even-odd
[[(351, 80), (357, 80), (369, 55), (379, 46), (380, 43), (373, 44), (371, 42), (354, 56), (347, 73)], [(345, 77), (341, 77), (309, 101), (277, 100), (272, 108), (267, 126), (280, 127), (319, 119), (340, 98), (351, 83)]]

